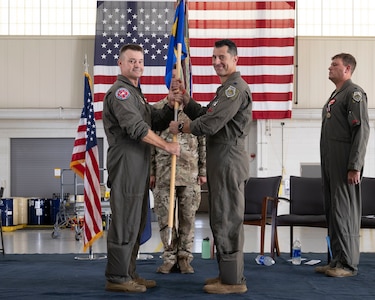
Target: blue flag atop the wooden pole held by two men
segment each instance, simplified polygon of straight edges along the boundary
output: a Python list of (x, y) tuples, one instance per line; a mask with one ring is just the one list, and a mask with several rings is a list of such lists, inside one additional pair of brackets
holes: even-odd
[(168, 89), (171, 84), (173, 66), (177, 62), (177, 44), (182, 45), (181, 60), (187, 57), (185, 44), (185, 0), (180, 0), (174, 17), (172, 34), (169, 40), (167, 65), (165, 70), (165, 84)]

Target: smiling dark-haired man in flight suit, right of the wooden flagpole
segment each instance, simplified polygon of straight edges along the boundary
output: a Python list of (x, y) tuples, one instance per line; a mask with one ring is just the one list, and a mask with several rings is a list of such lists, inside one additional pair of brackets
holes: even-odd
[(250, 131), (251, 93), (236, 71), (237, 46), (231, 40), (215, 43), (212, 65), (221, 86), (207, 107), (196, 103), (184, 91), (184, 112), (191, 122), (171, 122), (172, 133), (206, 136), (206, 169), (209, 218), (217, 251), (219, 276), (206, 280), (204, 291), (212, 294), (245, 293), (244, 277), (244, 186), (249, 176), (249, 155), (245, 137)]

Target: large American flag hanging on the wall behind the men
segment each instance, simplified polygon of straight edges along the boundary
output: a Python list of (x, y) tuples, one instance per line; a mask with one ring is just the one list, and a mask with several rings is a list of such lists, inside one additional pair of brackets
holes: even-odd
[[(202, 104), (220, 85), (212, 64), (214, 42), (238, 47), (237, 70), (249, 83), (254, 119), (291, 118), (295, 1), (188, 0), (192, 95)], [(118, 52), (125, 43), (145, 50), (142, 91), (149, 102), (167, 94), (164, 82), (176, 1), (97, 1), (94, 104), (101, 119), (103, 98), (116, 80)]]

